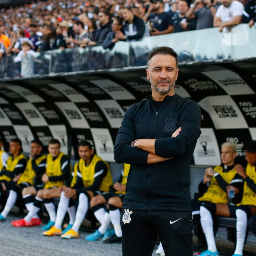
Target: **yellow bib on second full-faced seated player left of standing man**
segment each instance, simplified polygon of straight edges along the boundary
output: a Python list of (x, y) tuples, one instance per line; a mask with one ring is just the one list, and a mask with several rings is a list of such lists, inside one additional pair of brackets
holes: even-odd
[[(46, 156), (46, 174), (48, 177), (60, 176), (63, 174), (61, 170), (60, 160), (65, 154), (60, 152), (54, 161), (52, 161), (52, 155)], [(64, 180), (48, 181), (45, 183), (44, 188), (61, 187), (64, 185)]]

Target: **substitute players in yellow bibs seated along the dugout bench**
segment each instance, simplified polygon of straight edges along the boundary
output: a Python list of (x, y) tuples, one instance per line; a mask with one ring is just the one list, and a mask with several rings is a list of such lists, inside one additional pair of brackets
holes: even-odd
[[(79, 228), (90, 207), (100, 228), (85, 239), (102, 240), (103, 243), (122, 242), (120, 218), (129, 164), (124, 164), (120, 179), (113, 185), (109, 164), (95, 154), (87, 141), (81, 141), (77, 146), (80, 159), (74, 164), (72, 172), (69, 158), (60, 151), (60, 142), (56, 139), (49, 141), (46, 156), (42, 154), (41, 141), (32, 140), (28, 160), (22, 153), (19, 139), (10, 142), (9, 155), (3, 146), (4, 140), (0, 139), (0, 202), (3, 204), (3, 196), (8, 197), (5, 206), (2, 205), (0, 222), (8, 221), (9, 212), (18, 202), (25, 204), (28, 214), (12, 221), (12, 225), (17, 228), (39, 226), (42, 220), (37, 213), (44, 204), (49, 222), (41, 228), (44, 230), (42, 234), (78, 238)], [(256, 235), (256, 141), (244, 144), (248, 162), (246, 170), (236, 163), (236, 150), (235, 143), (221, 145), (221, 164), (206, 168), (198, 186), (202, 196), (192, 200), (193, 221), (200, 219), (208, 245), (208, 250), (201, 256), (220, 255), (214, 240), (216, 216), (237, 220), (233, 256), (243, 255), (247, 227)], [(56, 197), (60, 198), (57, 212), (53, 203)], [(63, 227), (67, 212), (69, 223)], [(161, 243), (156, 253), (165, 255)]]

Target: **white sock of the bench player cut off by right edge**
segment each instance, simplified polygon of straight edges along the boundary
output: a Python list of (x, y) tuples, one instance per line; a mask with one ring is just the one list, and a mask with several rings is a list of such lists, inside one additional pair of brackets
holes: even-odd
[(236, 250), (234, 254), (243, 255), (244, 240), (247, 229), (247, 214), (243, 210), (236, 210)]

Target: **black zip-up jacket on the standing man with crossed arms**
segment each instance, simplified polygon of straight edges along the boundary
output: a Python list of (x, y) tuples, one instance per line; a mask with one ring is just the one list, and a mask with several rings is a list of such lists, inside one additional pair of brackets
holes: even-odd
[[(201, 134), (200, 108), (174, 94), (156, 111), (151, 97), (127, 109), (117, 133), (114, 158), (131, 164), (123, 208), (191, 211), (190, 162)], [(172, 138), (179, 127), (180, 135)], [(147, 164), (148, 152), (130, 146), (135, 139), (156, 139), (156, 155), (173, 158)]]

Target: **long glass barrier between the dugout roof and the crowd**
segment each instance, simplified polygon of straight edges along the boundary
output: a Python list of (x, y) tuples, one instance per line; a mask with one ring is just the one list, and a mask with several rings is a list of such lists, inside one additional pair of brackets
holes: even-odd
[[(144, 66), (148, 53), (158, 46), (172, 47), (178, 54), (179, 62), (246, 58), (256, 56), (255, 26), (240, 24), (230, 31), (225, 28), (208, 28), (144, 37), (137, 42), (120, 41), (112, 50), (101, 45), (53, 50), (37, 53), (34, 59), (34, 74), (54, 74), (109, 68)], [(0, 77), (20, 77), (20, 63), (14, 57), (0, 59)]]

